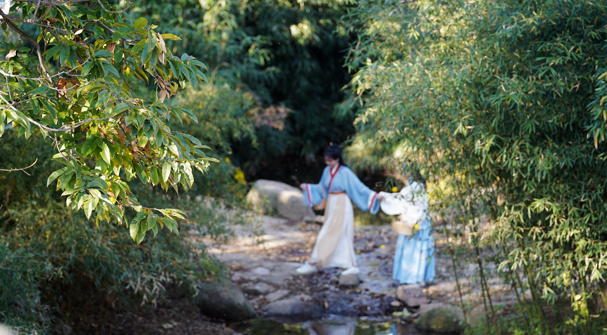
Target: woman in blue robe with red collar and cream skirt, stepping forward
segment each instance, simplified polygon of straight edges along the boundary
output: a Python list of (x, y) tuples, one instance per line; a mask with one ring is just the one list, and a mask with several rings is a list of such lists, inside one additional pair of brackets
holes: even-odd
[(320, 183), (301, 184), (308, 207), (325, 205), (324, 224), (318, 233), (310, 262), (297, 269), (300, 274), (316, 271), (316, 266), (343, 268), (342, 274), (358, 274), (354, 253), (354, 211), (352, 201), (375, 214), (382, 196), (365, 186), (343, 163), (341, 149), (332, 144), (325, 149), (327, 168)]

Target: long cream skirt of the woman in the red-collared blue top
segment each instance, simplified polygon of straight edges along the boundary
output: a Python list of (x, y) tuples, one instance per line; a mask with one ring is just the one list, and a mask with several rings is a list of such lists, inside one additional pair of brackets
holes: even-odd
[(325, 223), (318, 233), (310, 264), (345, 269), (356, 266), (354, 211), (347, 194), (329, 195)]

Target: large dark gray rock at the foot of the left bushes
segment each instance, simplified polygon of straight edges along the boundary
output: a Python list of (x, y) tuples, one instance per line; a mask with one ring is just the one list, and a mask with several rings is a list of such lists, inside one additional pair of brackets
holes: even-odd
[(240, 288), (228, 281), (200, 283), (194, 302), (203, 314), (223, 320), (252, 319), (257, 314)]

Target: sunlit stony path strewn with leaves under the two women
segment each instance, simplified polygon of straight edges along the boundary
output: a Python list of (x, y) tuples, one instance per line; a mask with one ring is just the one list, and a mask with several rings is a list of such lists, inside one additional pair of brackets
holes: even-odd
[[(237, 238), (231, 243), (209, 248), (209, 252), (229, 266), (232, 280), (259, 312), (267, 303), (288, 298), (317, 303), (327, 314), (363, 320), (392, 320), (394, 312), (403, 310), (404, 306), (396, 301), (398, 283), (392, 280), (397, 235), (389, 226), (355, 228), (361, 283), (340, 286), (339, 269), (320, 269), (307, 276), (295, 271), (310, 257), (319, 224), (263, 215), (259, 223), (265, 234), (258, 239), (251, 237), (249, 231), (236, 228)], [(442, 304), (459, 306), (451, 260), (443, 250), (444, 238), (435, 234), (435, 239), (437, 276), (435, 282), (423, 289), (431, 305), (422, 305), (422, 311)], [(467, 314), (469, 319), (478, 321), (484, 315), (484, 307), (480, 285), (473, 280), (476, 267), (464, 264), (464, 271), (459, 272)], [(509, 287), (499, 279), (489, 280), (489, 285), (494, 305), (509, 306), (516, 301)]]

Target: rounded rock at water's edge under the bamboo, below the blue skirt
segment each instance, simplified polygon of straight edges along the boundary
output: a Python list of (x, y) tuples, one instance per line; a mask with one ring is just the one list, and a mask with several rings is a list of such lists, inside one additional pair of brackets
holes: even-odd
[(452, 306), (442, 306), (427, 311), (417, 320), (415, 327), (436, 333), (460, 333), (464, 330), (464, 321), (461, 311)]

